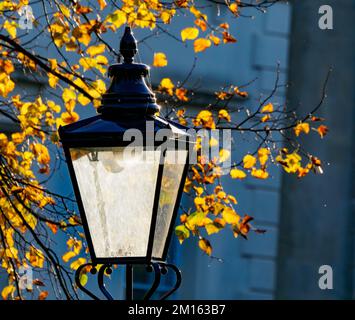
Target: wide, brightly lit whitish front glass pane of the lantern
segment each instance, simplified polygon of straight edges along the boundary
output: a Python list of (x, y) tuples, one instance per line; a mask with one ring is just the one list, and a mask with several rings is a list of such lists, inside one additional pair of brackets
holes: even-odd
[(160, 151), (70, 149), (97, 258), (147, 255)]

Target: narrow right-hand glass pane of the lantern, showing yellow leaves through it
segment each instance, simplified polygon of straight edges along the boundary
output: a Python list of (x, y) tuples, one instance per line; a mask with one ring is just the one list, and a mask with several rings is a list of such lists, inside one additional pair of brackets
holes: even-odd
[(187, 150), (167, 150), (164, 160), (158, 215), (154, 233), (153, 257), (162, 258), (173, 217), (181, 178), (186, 165)]

